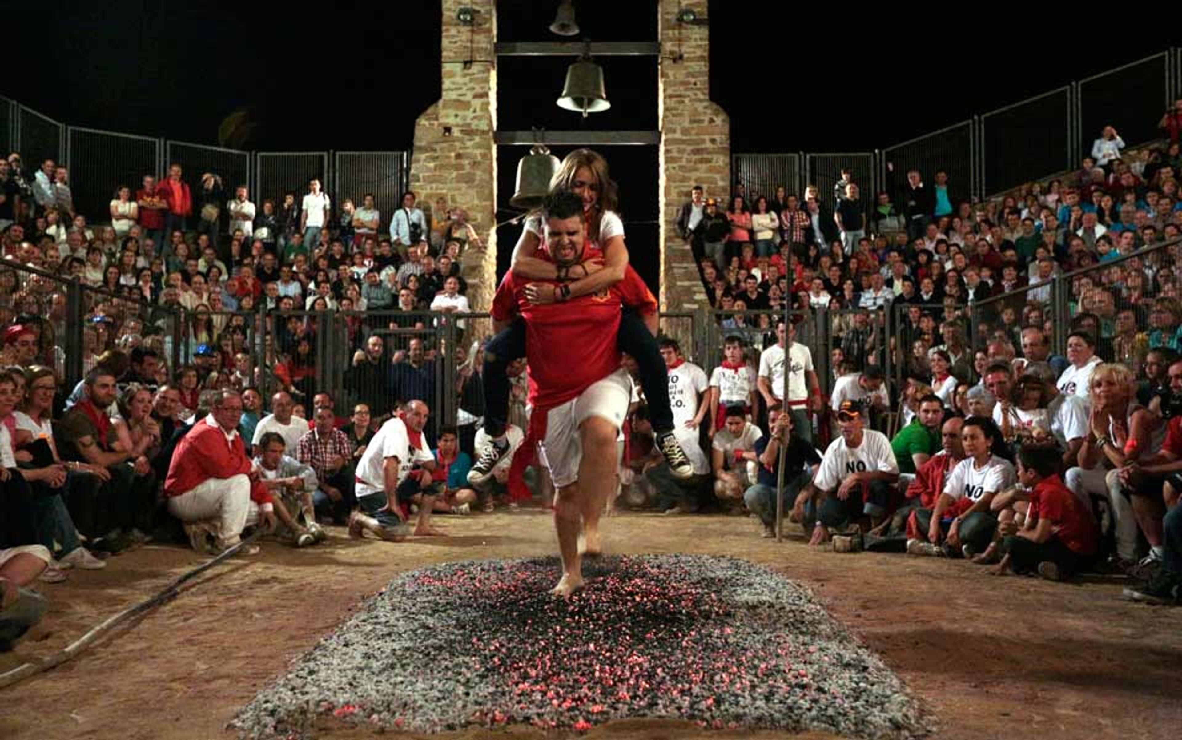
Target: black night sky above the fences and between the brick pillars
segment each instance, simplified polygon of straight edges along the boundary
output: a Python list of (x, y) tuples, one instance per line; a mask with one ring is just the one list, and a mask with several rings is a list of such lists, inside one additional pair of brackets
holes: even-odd
[[(6, 25), (24, 31), (11, 35), (9, 54), (28, 63), (0, 92), (77, 125), (214, 143), (219, 123), (246, 109), (258, 123), (251, 148), (401, 149), (411, 144), (415, 117), (439, 97), (435, 2), (338, 1), (316, 13), (191, 0), (59, 4), (54, 13), (12, 5)], [(502, 1), (502, 38), (557, 38), (545, 30), (556, 5)], [(709, 4), (710, 90), (730, 113), (735, 151), (883, 148), (1182, 43), (1182, 32), (1124, 22), (1117, 25), (1136, 38), (1119, 40), (1085, 27), (1100, 20), (1089, 14), (989, 11), (996, 28), (949, 19), (944, 32), (917, 33), (922, 9), (853, 24), (790, 9), (800, 7)], [(650, 1), (576, 8), (595, 40), (655, 32)], [(554, 78), (548, 98), (569, 63), (554, 61), (546, 70), (533, 60), (539, 77)], [(611, 66), (625, 67), (615, 77), (608, 69), (612, 117), (647, 125), (655, 109), (621, 103), (655, 73)], [(864, 105), (856, 106), (859, 90)], [(767, 95), (782, 112), (759, 102)]]

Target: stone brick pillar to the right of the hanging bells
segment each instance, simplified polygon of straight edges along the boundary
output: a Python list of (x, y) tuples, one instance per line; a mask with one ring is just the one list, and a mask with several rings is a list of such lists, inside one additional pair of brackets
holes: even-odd
[[(707, 15), (706, 1), (660, 4), (661, 40), (661, 307), (693, 311), (709, 306), (694, 257), (677, 236), (677, 209), (695, 184), (725, 201), (730, 192), (730, 119), (710, 102), (710, 32), (677, 22), (689, 7)], [(677, 324), (683, 324), (678, 322)], [(684, 339), (684, 337), (678, 337)], [(682, 342), (684, 345), (684, 340)]]

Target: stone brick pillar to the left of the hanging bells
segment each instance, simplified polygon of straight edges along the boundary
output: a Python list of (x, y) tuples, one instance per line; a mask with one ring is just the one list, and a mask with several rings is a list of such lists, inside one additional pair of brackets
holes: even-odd
[[(461, 206), (487, 245), (480, 253), (467, 251), (462, 272), (468, 281), (468, 303), (487, 311), (496, 279), (496, 9), (493, 0), (443, 0), (443, 95), (415, 121), (415, 148), (410, 161), (410, 189), (427, 212), (437, 197)], [(461, 7), (479, 11), (474, 27), (456, 20)], [(476, 59), (466, 66), (466, 59)], [(446, 135), (444, 130), (450, 129)], [(474, 327), (487, 331), (487, 322)]]

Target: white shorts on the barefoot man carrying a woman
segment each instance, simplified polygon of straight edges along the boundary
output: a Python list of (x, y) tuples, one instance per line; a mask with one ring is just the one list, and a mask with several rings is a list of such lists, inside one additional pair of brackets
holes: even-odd
[(579, 462), (583, 460), (579, 424), (598, 416), (619, 429), (628, 416), (631, 400), (632, 379), (619, 369), (587, 385), (574, 398), (550, 409), (546, 416), (546, 439), (538, 446), (538, 456), (550, 470), (556, 488), (570, 486), (579, 479)]

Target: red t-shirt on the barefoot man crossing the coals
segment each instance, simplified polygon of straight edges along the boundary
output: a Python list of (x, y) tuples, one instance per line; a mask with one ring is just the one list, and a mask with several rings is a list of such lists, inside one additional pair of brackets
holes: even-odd
[[(595, 249), (586, 252), (586, 257), (597, 254)], [(616, 335), (621, 305), (643, 316), (657, 310), (656, 298), (631, 267), (609, 290), (564, 303), (531, 304), (525, 298), (530, 283), (539, 281), (518, 278), (513, 271), (505, 273), (493, 297), (492, 314), (498, 322), (525, 318), (528, 401), (535, 411), (566, 403), (619, 366)]]

